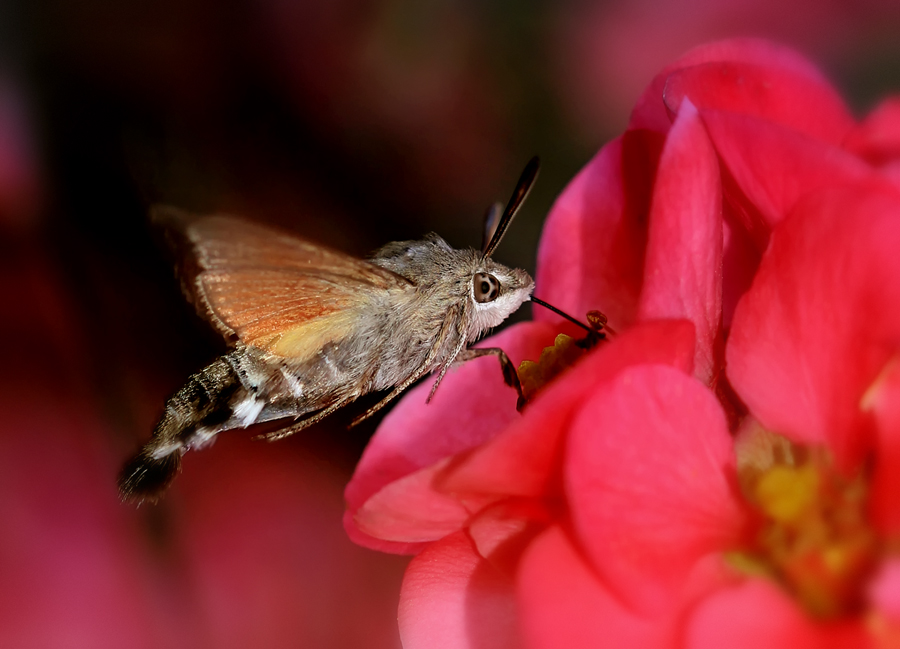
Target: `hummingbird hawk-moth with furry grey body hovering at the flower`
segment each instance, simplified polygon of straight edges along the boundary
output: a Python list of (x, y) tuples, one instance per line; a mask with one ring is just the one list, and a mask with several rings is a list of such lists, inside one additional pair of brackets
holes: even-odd
[(390, 390), (357, 423), (436, 371), (433, 396), (453, 364), (479, 356), (496, 356), (521, 397), (506, 354), (469, 345), (531, 297), (528, 273), (491, 255), (538, 168), (533, 158), (506, 208), (489, 211), (480, 251), (429, 234), (363, 260), (231, 216), (153, 208), (167, 238), (189, 251), (188, 298), (231, 351), (166, 402), (150, 441), (122, 470), (121, 496), (156, 498), (181, 456), (224, 430), (280, 420), (284, 427), (266, 435), (280, 439), (364, 394)]

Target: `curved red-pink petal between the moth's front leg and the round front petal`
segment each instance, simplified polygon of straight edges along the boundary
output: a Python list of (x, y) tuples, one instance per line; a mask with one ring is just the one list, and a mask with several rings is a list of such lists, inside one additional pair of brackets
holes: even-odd
[(647, 322), (619, 334), (561, 376), (530, 404), (525, 416), (448, 470), (447, 493), (544, 497), (557, 491), (561, 443), (584, 399), (623, 369), (663, 363), (689, 373), (694, 331), (686, 321)]

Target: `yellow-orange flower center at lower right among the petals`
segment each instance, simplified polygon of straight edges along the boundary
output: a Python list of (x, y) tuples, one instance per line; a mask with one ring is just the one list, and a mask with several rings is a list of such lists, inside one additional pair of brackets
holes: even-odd
[(882, 549), (867, 516), (867, 476), (842, 475), (825, 449), (767, 431), (743, 435), (736, 450), (760, 524), (734, 565), (773, 577), (816, 617), (859, 612)]

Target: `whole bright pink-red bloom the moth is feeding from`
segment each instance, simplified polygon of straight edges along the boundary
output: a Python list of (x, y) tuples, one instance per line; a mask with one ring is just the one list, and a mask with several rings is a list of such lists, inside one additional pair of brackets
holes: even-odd
[[(898, 124), (765, 42), (657, 76), (539, 253), (622, 333), (524, 416), (487, 360), (413, 391), (347, 488), (352, 538), (418, 553), (406, 646), (896, 639)], [(538, 318), (491, 344), (537, 358)]]

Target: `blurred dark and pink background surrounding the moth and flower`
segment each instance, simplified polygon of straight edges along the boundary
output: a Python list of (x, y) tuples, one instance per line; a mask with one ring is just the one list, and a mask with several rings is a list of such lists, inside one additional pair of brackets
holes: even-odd
[(368, 402), (278, 444), (225, 435), (160, 504), (118, 502), (165, 398), (223, 350), (149, 204), (360, 255), (477, 246), (540, 154), (497, 254), (533, 271), (554, 197), (667, 62), (774, 38), (862, 114), (900, 87), (898, 30), (892, 0), (2, 0), (0, 646), (399, 644), (406, 560), (341, 527)]

